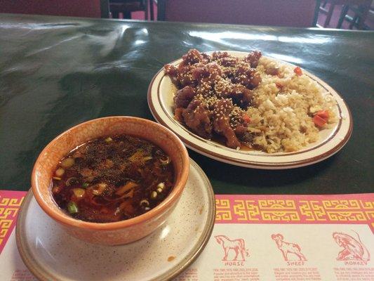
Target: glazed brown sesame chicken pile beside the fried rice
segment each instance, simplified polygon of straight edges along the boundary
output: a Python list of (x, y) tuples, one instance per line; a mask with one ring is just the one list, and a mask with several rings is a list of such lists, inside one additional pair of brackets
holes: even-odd
[(175, 119), (197, 135), (211, 139), (224, 136), (229, 148), (251, 142), (246, 110), (253, 103), (252, 90), (261, 83), (255, 68), (261, 53), (245, 58), (227, 52), (211, 55), (189, 50), (178, 66), (165, 65), (178, 91), (174, 97)]

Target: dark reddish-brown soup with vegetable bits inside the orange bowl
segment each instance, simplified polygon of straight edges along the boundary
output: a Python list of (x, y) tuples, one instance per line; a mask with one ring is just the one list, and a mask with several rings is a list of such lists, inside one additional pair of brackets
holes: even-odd
[(156, 207), (173, 188), (171, 158), (133, 136), (97, 138), (61, 159), (53, 175), (55, 202), (82, 221), (110, 223)]

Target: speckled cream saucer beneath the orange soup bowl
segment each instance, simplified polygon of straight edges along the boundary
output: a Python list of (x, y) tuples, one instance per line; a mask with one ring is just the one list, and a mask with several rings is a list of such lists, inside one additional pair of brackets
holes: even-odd
[(30, 191), (16, 228), (18, 250), (27, 268), (39, 280), (55, 281), (175, 277), (199, 256), (215, 218), (211, 183), (200, 167), (190, 162), (186, 188), (166, 224), (142, 240), (122, 246), (88, 244), (67, 235), (44, 214)]

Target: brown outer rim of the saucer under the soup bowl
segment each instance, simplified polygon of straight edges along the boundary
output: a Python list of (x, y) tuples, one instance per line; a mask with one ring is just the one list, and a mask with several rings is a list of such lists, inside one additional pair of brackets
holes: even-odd
[[(215, 195), (211, 181), (209, 181), (208, 176), (206, 176), (206, 174), (201, 169), (199, 164), (194, 162), (193, 159), (189, 158), (189, 163), (191, 166), (194, 166), (201, 179), (206, 182), (206, 185), (204, 185), (202, 188), (203, 190), (206, 190), (206, 192), (208, 192), (208, 221), (206, 223), (206, 226), (204, 226), (203, 228), (201, 237), (192, 248), (192, 254), (186, 256), (179, 263), (176, 263), (170, 270), (166, 271), (166, 273), (154, 277), (152, 281), (171, 280), (173, 277), (176, 277), (180, 273), (182, 273), (199, 257), (203, 249), (206, 247), (206, 244), (208, 244), (208, 241), (210, 240), (211, 235), (213, 233), (213, 228), (215, 225)], [(52, 275), (47, 270), (44, 270), (44, 268), (39, 266), (39, 263), (36, 261), (36, 259), (35, 261), (32, 259), (33, 255), (29, 254), (29, 247), (27, 242), (25, 242), (25, 240), (22, 239), (22, 230), (25, 231), (25, 229), (22, 228), (22, 222), (25, 221), (25, 216), (27, 214), (27, 212), (25, 211), (25, 207), (29, 205), (29, 203), (32, 200), (32, 197), (34, 197), (34, 194), (32, 193), (32, 189), (30, 188), (18, 211), (17, 224), (15, 226), (15, 242), (17, 244), (18, 252), (20, 253), (21, 259), (25, 263), (25, 266), (38, 280), (70, 280), (68, 278), (58, 279), (56, 276)]]

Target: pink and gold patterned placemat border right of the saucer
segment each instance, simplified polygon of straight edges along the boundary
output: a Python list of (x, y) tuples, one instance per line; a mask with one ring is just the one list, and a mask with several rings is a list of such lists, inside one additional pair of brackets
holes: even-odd
[(215, 223), (353, 223), (374, 233), (374, 193), (215, 195)]

